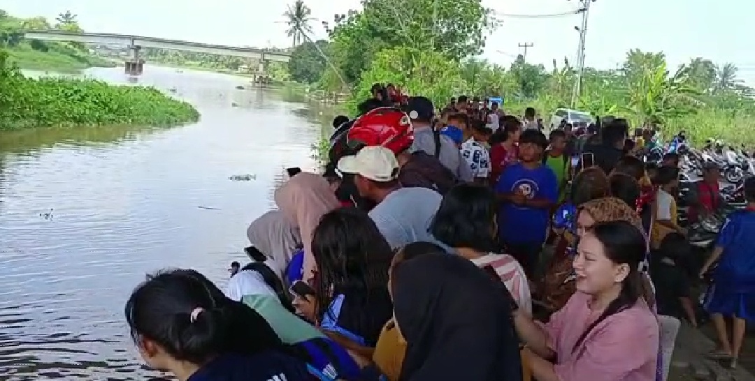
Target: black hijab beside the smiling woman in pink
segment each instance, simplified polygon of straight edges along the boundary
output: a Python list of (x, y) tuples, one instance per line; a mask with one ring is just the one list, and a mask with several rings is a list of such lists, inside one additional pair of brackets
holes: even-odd
[(404, 261), (391, 279), (396, 323), (407, 342), (399, 381), (522, 379), (502, 282), (445, 254)]

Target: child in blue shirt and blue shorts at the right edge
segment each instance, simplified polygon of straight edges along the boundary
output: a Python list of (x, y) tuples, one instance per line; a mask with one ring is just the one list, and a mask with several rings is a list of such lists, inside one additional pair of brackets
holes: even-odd
[[(705, 262), (700, 276), (719, 260), (713, 273), (712, 291), (705, 301), (705, 309), (710, 312), (720, 349), (712, 355), (731, 358), (731, 367), (737, 367), (737, 358), (744, 341), (745, 322), (755, 319), (755, 178), (744, 181), (744, 198), (747, 208), (729, 215), (719, 233), (713, 254)], [(726, 332), (724, 316), (732, 317), (732, 337)]]

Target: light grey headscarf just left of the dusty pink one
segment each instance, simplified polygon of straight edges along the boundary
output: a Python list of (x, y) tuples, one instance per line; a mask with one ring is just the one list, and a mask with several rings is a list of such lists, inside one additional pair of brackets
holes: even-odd
[(294, 253), (301, 248), (299, 230), (279, 210), (271, 210), (252, 221), (246, 236), (254, 248), (270, 258), (273, 262), (270, 267), (274, 267), (278, 276), (284, 273)]

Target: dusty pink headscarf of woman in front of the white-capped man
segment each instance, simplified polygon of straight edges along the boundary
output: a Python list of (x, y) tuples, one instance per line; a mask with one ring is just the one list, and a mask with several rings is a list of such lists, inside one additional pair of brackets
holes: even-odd
[(312, 255), (312, 236), (320, 218), (336, 209), (340, 203), (333, 194), (330, 184), (321, 175), (301, 172), (291, 177), (274, 195), (278, 209), (288, 222), (298, 227), (304, 245), (302, 280), (310, 282), (316, 268)]

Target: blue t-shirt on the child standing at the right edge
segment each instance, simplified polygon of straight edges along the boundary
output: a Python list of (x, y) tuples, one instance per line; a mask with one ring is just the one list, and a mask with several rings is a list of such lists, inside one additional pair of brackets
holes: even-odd
[(755, 212), (732, 213), (721, 228), (716, 246), (723, 247), (716, 268), (716, 289), (755, 293)]

